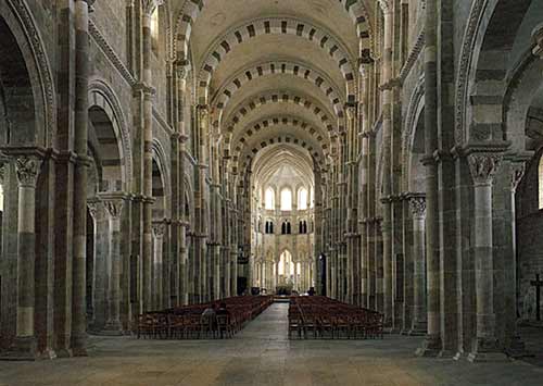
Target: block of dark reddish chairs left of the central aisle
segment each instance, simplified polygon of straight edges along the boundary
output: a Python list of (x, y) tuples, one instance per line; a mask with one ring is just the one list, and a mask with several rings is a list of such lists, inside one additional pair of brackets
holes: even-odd
[(211, 302), (142, 313), (134, 323), (134, 335), (138, 339), (229, 338), (241, 331), (245, 322), (263, 312), (273, 302), (273, 297), (235, 297), (214, 303), (222, 302), (226, 303), (228, 314), (213, 319), (202, 316)]

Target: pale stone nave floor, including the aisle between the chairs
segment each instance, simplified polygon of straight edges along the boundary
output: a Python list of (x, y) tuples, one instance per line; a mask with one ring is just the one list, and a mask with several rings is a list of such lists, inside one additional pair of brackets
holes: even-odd
[(543, 385), (523, 361), (414, 358), (418, 338), (288, 340), (276, 303), (229, 340), (91, 338), (88, 358), (0, 362), (0, 385)]

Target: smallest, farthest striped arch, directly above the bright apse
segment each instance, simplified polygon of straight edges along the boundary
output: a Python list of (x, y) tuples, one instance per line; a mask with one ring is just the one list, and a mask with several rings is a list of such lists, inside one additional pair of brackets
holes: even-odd
[(319, 152), (318, 149), (315, 149), (312, 144), (308, 144), (307, 141), (296, 138), (292, 135), (275, 135), (275, 136), (269, 136), (266, 139), (263, 139), (262, 141), (258, 141), (257, 144), (247, 144), (243, 149), (240, 151), (239, 155), (232, 158), (233, 162), (233, 172), (236, 173), (236, 167), (238, 170), (242, 171), (244, 170), (248, 165), (252, 164), (252, 161), (254, 160), (254, 157), (258, 153), (258, 151), (267, 148), (268, 146), (273, 145), (290, 145), (290, 146), (295, 146), (303, 148), (304, 150), (307, 150), (310, 155), (315, 159), (315, 162), (318, 163), (320, 166), (325, 165), (325, 155), (323, 152)]

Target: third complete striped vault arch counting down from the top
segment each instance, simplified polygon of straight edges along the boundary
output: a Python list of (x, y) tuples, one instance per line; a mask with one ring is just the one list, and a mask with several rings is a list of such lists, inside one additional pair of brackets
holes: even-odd
[[(236, 128), (236, 125), (247, 114), (267, 103), (294, 103), (301, 105), (310, 110), (315, 116), (317, 116), (318, 120), (323, 123), (323, 126), (326, 127), (330, 135), (336, 132), (336, 124), (332, 116), (328, 114), (326, 110), (321, 105), (319, 105), (318, 102), (312, 101), (305, 97), (301, 97), (289, 91), (276, 91), (251, 97), (248, 102), (240, 104), (240, 107), (236, 110), (236, 112), (231, 114), (230, 119), (225, 125), (226, 133), (224, 134), (226, 134), (227, 137), (231, 135)], [(343, 132), (344, 125), (340, 123), (338, 129), (340, 132)]]

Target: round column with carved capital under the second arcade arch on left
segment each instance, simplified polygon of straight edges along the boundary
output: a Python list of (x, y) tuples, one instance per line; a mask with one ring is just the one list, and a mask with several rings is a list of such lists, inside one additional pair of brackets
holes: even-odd
[(122, 335), (121, 325), (121, 214), (123, 197), (119, 195), (101, 195), (110, 215), (110, 279), (109, 279), (109, 317), (104, 332)]

